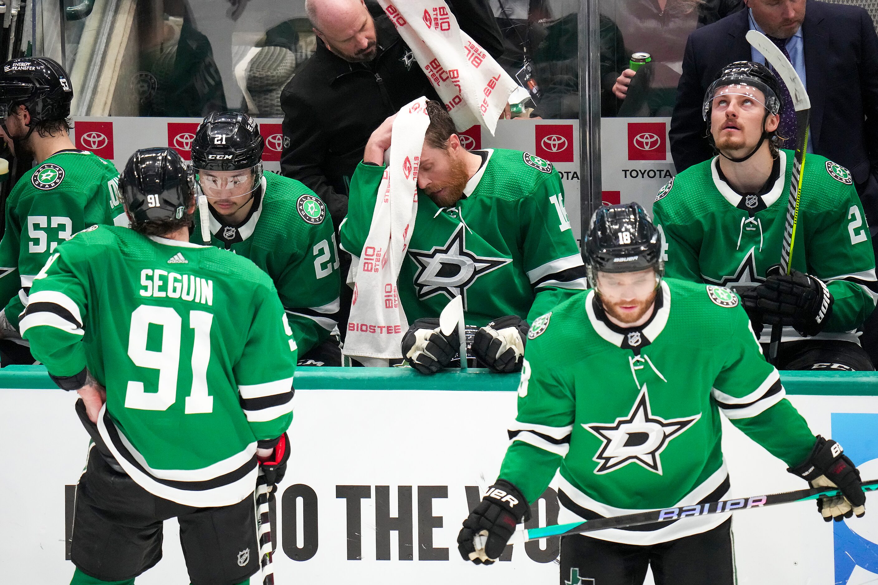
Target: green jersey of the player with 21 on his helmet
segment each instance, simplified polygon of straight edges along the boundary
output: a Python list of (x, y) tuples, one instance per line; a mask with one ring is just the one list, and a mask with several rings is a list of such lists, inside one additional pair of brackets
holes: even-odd
[[(190, 241), (204, 244), (198, 211), (194, 221)], [(213, 246), (253, 260), (271, 277), (300, 354), (329, 337), (341, 279), (332, 218), (320, 197), (295, 179), (265, 173), (262, 194), (244, 223), (224, 225), (211, 208), (210, 229)]]

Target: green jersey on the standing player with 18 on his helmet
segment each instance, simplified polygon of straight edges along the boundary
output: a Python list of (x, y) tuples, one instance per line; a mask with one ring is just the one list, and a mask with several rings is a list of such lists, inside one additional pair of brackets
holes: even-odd
[[(558, 523), (723, 499), (730, 482), (720, 411), (788, 466), (801, 464), (814, 446), (738, 296), (671, 279), (659, 290), (642, 327), (613, 325), (594, 290), (530, 327), (500, 478), (533, 502), (560, 467)], [(591, 536), (650, 545), (727, 517)]]

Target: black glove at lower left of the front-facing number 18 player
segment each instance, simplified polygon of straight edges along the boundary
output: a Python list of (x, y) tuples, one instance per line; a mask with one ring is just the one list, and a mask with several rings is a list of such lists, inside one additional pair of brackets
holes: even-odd
[(477, 565), (491, 565), (500, 558), (503, 549), (522, 519), (530, 517), (530, 508), (522, 492), (504, 480), (497, 480), (457, 535), (457, 550), (464, 560)]

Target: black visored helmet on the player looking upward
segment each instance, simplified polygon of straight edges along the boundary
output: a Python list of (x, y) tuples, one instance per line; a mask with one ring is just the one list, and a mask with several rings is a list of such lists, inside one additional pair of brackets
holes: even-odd
[[(762, 96), (759, 96), (759, 93), (753, 91), (753, 89), (759, 89), (762, 92)], [(781, 82), (774, 76), (771, 69), (761, 63), (735, 61), (720, 69), (719, 73), (716, 74), (714, 82), (710, 84), (710, 87), (704, 93), (704, 101), (702, 103), (702, 118), (704, 118), (708, 125), (710, 145), (716, 148), (713, 133), (710, 132), (710, 114), (713, 109), (713, 102), (717, 97), (746, 96), (755, 102), (761, 103), (766, 109), (765, 117), (762, 118), (762, 137), (752, 152), (737, 159), (725, 157), (732, 162), (743, 162), (759, 150), (759, 146), (762, 146), (762, 142), (765, 139), (771, 139), (774, 136), (774, 132), (765, 131), (765, 122), (768, 116), (781, 114), (783, 108), (781, 95)]]

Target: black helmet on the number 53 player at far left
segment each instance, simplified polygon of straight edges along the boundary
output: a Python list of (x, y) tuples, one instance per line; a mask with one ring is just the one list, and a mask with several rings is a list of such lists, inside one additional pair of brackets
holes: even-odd
[(64, 68), (47, 57), (11, 59), (0, 72), (0, 121), (25, 105), (32, 124), (70, 116), (73, 87)]

